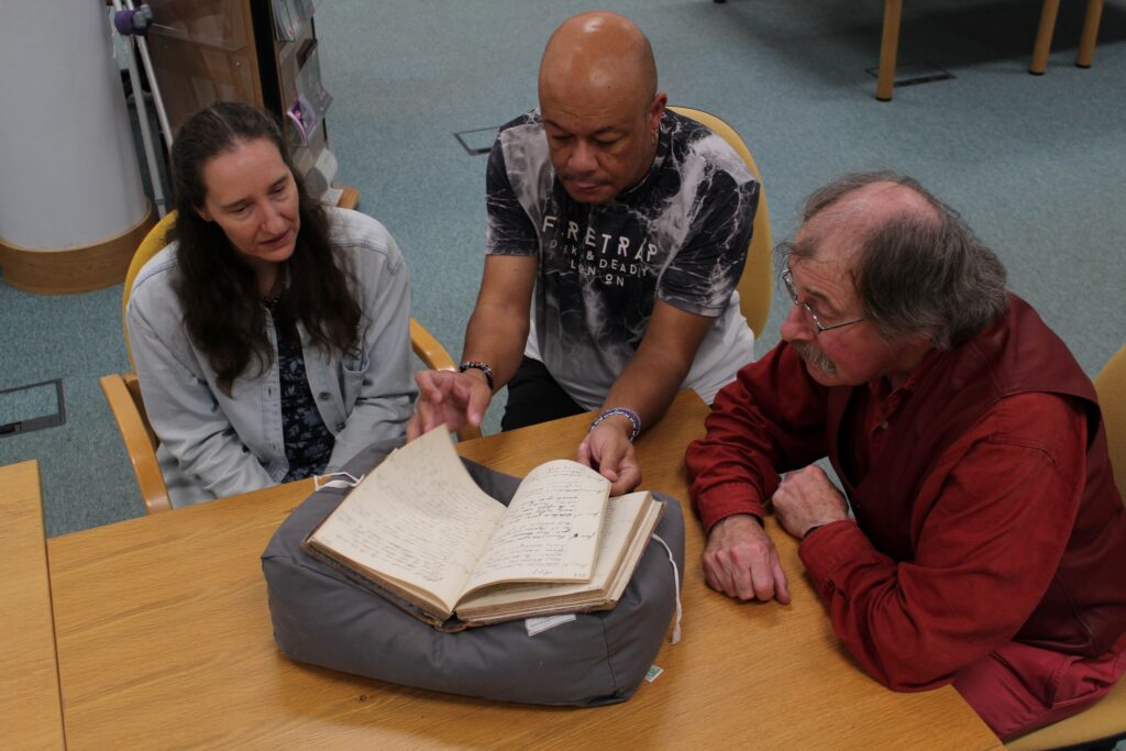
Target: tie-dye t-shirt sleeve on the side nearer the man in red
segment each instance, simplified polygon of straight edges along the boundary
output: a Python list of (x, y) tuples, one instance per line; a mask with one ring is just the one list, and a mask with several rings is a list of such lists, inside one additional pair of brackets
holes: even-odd
[(661, 276), (658, 297), (689, 313), (716, 316), (726, 309), (747, 263), (759, 184), (736, 182), (712, 164), (703, 169), (688, 234)]

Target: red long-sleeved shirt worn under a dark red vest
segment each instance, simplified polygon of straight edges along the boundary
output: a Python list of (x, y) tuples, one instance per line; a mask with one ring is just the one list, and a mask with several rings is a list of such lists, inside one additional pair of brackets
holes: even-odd
[[(885, 450), (937, 357), (899, 390), (883, 381), (857, 390), (860, 406), (842, 423), (837, 455), (851, 477), (865, 477)], [(777, 471), (830, 454), (829, 391), (783, 345), (720, 392), (707, 438), (686, 456), (706, 529), (733, 513), (762, 516)], [(931, 470), (913, 499), (910, 555), (881, 552), (851, 520), (802, 543), (834, 631), (870, 674), (897, 690), (936, 687), (1018, 634), (1069, 545), (1087, 450), (1082, 402), (1006, 396), (938, 457), (920, 457)]]

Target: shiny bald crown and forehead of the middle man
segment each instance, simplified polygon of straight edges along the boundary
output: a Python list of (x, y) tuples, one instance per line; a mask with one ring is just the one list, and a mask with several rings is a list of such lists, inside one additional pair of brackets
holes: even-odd
[(653, 48), (625, 16), (606, 10), (572, 16), (547, 41), (539, 63), (540, 97), (545, 88), (647, 105), (656, 96)]

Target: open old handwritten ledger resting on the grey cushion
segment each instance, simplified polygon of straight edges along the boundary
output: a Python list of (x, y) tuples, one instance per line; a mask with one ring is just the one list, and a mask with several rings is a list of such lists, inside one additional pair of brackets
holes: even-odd
[[(305, 539), (305, 549), (437, 627), (613, 608), (663, 504), (609, 498), (578, 462), (539, 465), (506, 508), (444, 428), (392, 453)], [(455, 626), (456, 627), (456, 626)]]

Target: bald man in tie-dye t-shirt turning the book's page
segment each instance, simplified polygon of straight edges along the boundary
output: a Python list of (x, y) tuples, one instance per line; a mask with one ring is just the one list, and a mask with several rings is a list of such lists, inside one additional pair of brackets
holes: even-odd
[(578, 458), (625, 492), (641, 480), (633, 438), (676, 392), (711, 402), (753, 358), (734, 288), (759, 186), (667, 99), (628, 19), (582, 14), (552, 35), (539, 108), (504, 125), (489, 158), (462, 373), (419, 374), (410, 437), (479, 424), (507, 384), (506, 430), (599, 410)]

